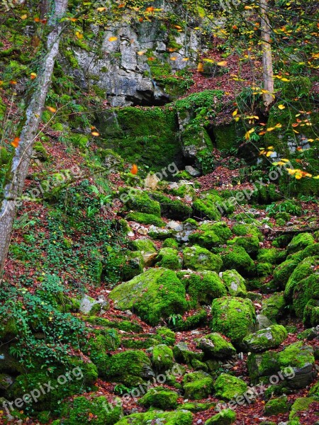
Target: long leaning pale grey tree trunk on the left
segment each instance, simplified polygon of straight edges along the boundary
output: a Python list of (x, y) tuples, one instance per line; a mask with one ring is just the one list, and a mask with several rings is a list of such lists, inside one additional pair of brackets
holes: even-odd
[(18, 203), (21, 203), (21, 200), (18, 200), (18, 198), (21, 197), (23, 192), (23, 186), (32, 157), (33, 142), (38, 131), (47, 91), (51, 84), (55, 57), (57, 57), (59, 51), (60, 37), (65, 25), (60, 20), (65, 16), (65, 12), (67, 11), (67, 0), (55, 0), (51, 7), (50, 18), (47, 24), (49, 26), (47, 51), (40, 63), (38, 77), (35, 80), (37, 86), (26, 108), (25, 122), (19, 135), (19, 146), (16, 149), (11, 166), (10, 181), (4, 190), (4, 200), (0, 208), (0, 276), (4, 270), (4, 262), (9, 249), (16, 209)]

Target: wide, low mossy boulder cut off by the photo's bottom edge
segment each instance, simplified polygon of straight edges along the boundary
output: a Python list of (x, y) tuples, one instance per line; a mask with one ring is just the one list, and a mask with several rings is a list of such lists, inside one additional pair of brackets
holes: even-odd
[(125, 416), (115, 425), (150, 425), (150, 424), (165, 424), (165, 425), (191, 425), (193, 415), (187, 410), (177, 410), (174, 412), (161, 412), (150, 410), (145, 413), (133, 413)]

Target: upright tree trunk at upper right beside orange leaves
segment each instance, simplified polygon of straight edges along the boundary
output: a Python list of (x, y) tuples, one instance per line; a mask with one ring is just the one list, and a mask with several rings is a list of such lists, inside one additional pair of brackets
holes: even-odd
[(272, 45), (270, 44), (271, 27), (268, 17), (268, 0), (259, 0), (261, 30), (262, 30), (262, 78), (264, 80), (264, 90), (267, 93), (263, 94), (264, 106), (269, 109), (274, 101), (274, 72), (272, 67)]

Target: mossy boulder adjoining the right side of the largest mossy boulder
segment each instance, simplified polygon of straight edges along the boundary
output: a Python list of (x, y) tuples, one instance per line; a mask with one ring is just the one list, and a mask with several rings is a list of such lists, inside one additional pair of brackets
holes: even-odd
[(210, 305), (214, 298), (227, 295), (223, 280), (215, 271), (190, 273), (188, 278), (182, 279), (186, 285), (186, 292), (191, 297), (190, 307), (196, 305)]

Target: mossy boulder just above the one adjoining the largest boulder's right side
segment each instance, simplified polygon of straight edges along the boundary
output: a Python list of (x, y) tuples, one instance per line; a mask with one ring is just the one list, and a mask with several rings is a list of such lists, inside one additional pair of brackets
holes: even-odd
[(194, 245), (184, 249), (184, 266), (196, 271), (220, 271), (223, 261), (220, 256), (212, 254), (208, 249)]

